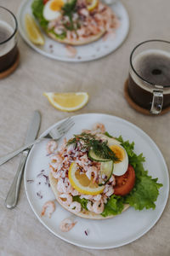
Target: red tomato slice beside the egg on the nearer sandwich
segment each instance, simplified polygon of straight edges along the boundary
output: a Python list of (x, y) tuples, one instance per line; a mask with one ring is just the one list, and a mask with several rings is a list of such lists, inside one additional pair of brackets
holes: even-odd
[(134, 186), (135, 183), (135, 172), (133, 166), (128, 165), (127, 172), (122, 176), (116, 177), (116, 186), (114, 187), (115, 195), (127, 195)]

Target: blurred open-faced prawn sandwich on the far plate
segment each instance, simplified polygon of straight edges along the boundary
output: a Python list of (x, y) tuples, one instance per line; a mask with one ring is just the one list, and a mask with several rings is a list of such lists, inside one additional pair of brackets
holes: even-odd
[(31, 9), (48, 36), (63, 44), (89, 44), (119, 26), (112, 9), (99, 0), (34, 0)]

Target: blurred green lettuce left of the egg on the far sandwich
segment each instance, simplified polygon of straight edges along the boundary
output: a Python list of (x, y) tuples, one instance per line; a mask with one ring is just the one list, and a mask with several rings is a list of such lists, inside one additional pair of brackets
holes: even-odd
[(31, 4), (32, 14), (38, 20), (40, 26), (43, 29), (47, 30), (48, 28), (48, 20), (45, 20), (43, 17), (43, 2), (42, 0), (34, 0)]

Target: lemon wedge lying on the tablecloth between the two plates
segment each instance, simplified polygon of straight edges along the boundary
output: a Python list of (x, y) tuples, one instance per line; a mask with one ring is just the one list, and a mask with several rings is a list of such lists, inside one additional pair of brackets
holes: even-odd
[(87, 92), (68, 92), (68, 93), (54, 93), (45, 92), (44, 96), (48, 97), (48, 101), (62, 111), (76, 111), (88, 102)]

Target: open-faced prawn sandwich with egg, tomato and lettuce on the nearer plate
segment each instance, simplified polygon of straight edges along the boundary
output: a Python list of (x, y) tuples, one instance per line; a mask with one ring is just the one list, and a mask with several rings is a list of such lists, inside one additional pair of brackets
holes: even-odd
[[(48, 147), (52, 142), (48, 142)], [(134, 143), (105, 132), (84, 130), (52, 152), (49, 182), (59, 204), (82, 218), (112, 218), (129, 206), (155, 208), (161, 183), (144, 171)]]

